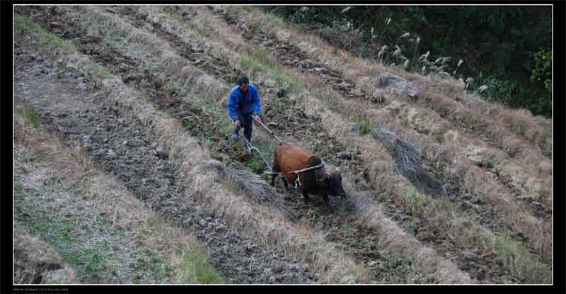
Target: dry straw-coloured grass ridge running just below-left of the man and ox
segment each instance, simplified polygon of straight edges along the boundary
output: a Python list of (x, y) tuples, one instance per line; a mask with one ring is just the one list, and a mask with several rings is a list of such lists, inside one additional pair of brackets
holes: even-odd
[[(187, 179), (187, 188), (200, 203), (203, 203), (216, 215), (221, 215), (233, 227), (239, 228), (241, 232), (248, 235), (260, 234), (262, 240), (268, 246), (281, 248), (284, 251), (296, 256), (301, 261), (308, 261), (305, 264), (312, 268), (317, 274), (320, 282), (323, 283), (359, 283), (366, 280), (365, 269), (357, 266), (354, 262), (337, 253), (333, 249), (333, 244), (324, 241), (321, 234), (309, 230), (300, 230), (287, 221), (283, 215), (275, 214), (261, 205), (251, 205), (246, 201), (246, 197), (235, 195), (217, 183), (218, 174), (214, 169), (207, 172), (209, 165), (219, 164), (219, 162), (209, 159), (207, 152), (204, 152), (197, 141), (185, 135), (183, 128), (178, 120), (165, 118), (159, 114), (153, 106), (142, 101), (143, 98), (136, 97), (136, 94), (124, 86), (112, 86), (117, 89), (110, 94), (112, 99), (119, 101), (127, 111), (128, 115), (135, 115), (141, 121), (151, 122), (146, 125), (150, 130), (152, 127), (156, 131), (156, 138), (163, 148), (168, 150), (175, 166), (183, 171)], [(120, 98), (118, 93), (129, 93), (127, 98)], [(292, 240), (292, 242), (291, 242)], [(313, 249), (315, 254), (309, 254), (305, 248)]]

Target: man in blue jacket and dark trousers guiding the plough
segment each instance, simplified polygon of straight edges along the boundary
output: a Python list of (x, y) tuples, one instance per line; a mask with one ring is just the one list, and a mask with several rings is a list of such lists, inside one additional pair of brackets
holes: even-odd
[[(248, 142), (252, 139), (253, 119), (260, 121), (260, 95), (255, 86), (250, 85), (248, 77), (238, 79), (238, 86), (234, 86), (228, 98), (228, 114), (235, 126), (232, 137), (238, 141), (238, 132), (243, 128), (243, 135)], [(248, 152), (250, 146), (246, 143)]]

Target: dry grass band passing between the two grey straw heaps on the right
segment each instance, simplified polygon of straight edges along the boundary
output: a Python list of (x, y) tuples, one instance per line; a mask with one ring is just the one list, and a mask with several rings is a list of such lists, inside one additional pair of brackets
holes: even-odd
[[(306, 80), (310, 81), (312, 78)], [(346, 100), (331, 89), (316, 84), (314, 86), (318, 88), (315, 92), (324, 93), (321, 98), (333, 111), (345, 114), (350, 119), (359, 116), (368, 118), (374, 128), (394, 130), (405, 140), (417, 143), (424, 158), (431, 164), (438, 164), (441, 169), (458, 165), (490, 166), (489, 169), (497, 172), (521, 197), (531, 197), (550, 209), (552, 181), (551, 169), (548, 169), (550, 162), (547, 160), (523, 156), (522, 162), (528, 161), (529, 164), (518, 162), (516, 158), (509, 158), (501, 150), (475, 140), (474, 137), (461, 135), (451, 124), (438, 118), (434, 119), (436, 114), (423, 113), (422, 110), (398, 99), (391, 101), (386, 107), (372, 108), (367, 102)], [(470, 148), (482, 149), (482, 152), (474, 154), (474, 162), (467, 158)], [(477, 166), (474, 168), (477, 169)], [(487, 178), (487, 181), (492, 186), (501, 185), (497, 179)]]

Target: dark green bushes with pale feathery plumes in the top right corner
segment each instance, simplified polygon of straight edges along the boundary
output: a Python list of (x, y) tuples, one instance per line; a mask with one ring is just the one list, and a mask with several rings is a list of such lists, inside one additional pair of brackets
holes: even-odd
[(354, 55), (411, 72), (473, 77), (470, 91), (486, 85), (481, 96), (552, 115), (550, 6), (352, 6), (342, 12), (345, 7), (262, 9)]

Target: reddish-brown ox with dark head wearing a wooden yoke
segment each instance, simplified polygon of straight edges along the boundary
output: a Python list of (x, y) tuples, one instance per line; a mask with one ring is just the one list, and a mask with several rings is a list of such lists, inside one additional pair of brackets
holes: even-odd
[[(282, 143), (275, 148), (273, 157), (273, 171), (283, 174), (283, 183), (287, 191), (289, 183), (294, 185), (297, 175), (293, 171), (299, 171), (311, 166), (321, 164), (320, 158), (313, 156), (301, 147), (296, 147), (290, 143)], [(277, 174), (271, 178), (271, 186), (275, 186)], [(334, 170), (327, 173), (325, 168), (313, 169), (299, 173), (301, 182), (301, 193), (303, 193), (305, 203), (308, 203), (308, 193), (323, 196), (324, 203), (328, 208), (328, 213), (334, 213), (333, 208), (328, 203), (328, 195), (346, 197), (346, 192), (342, 188), (342, 176), (340, 171)]]

